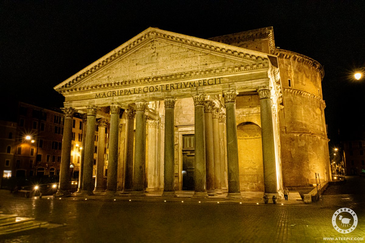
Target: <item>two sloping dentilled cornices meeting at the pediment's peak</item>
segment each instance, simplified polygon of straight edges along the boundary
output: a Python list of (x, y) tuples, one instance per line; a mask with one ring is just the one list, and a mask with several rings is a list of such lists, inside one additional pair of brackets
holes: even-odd
[[(164, 31), (157, 28), (148, 28), (141, 34), (130, 39), (128, 42), (122, 44), (115, 50), (109, 52), (107, 55), (103, 56), (99, 60), (90, 64), (83, 70), (79, 71), (77, 74), (66, 79), (64, 82), (55, 86), (54, 89), (57, 91), (70, 89), (83, 81), (85, 78), (91, 77), (99, 70), (108, 66), (117, 59), (123, 58), (123, 56), (128, 55), (133, 50), (139, 48), (141, 45), (149, 42), (153, 39), (164, 40), (176, 44), (182, 44), (184, 46), (190, 46), (195, 49), (200, 49), (203, 51), (209, 51), (211, 53), (216, 53), (218, 55), (224, 55), (227, 57), (241, 59), (249, 62), (262, 62), (267, 60), (265, 54), (261, 52), (255, 52), (251, 50), (246, 50), (240, 47), (230, 46), (223, 43), (214, 42), (211, 40), (200, 39), (192, 36), (177, 34), (174, 32)], [(60, 92), (61, 93), (61, 92)]]

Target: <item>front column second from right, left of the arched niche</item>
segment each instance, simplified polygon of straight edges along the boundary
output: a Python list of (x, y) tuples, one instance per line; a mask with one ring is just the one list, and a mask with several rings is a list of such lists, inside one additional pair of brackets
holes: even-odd
[(223, 91), (226, 103), (228, 195), (242, 197), (239, 191), (238, 142), (236, 125), (236, 91)]

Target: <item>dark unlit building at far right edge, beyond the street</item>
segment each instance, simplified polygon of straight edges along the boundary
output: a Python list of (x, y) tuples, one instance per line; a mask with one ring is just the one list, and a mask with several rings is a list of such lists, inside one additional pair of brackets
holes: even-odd
[(365, 139), (353, 138), (343, 142), (346, 174), (359, 175), (365, 172)]

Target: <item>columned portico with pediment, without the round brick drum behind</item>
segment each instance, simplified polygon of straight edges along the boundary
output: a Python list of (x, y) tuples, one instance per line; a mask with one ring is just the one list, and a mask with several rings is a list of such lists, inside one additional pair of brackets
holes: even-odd
[[(255, 109), (261, 115), (264, 193), (281, 192), (276, 56), (148, 28), (54, 89), (65, 96), (68, 117), (87, 114), (81, 192), (103, 191), (91, 184), (93, 135), (102, 118), (99, 126), (110, 123), (106, 192), (122, 187), (135, 196), (145, 190), (175, 196), (183, 188), (183, 150), (194, 148), (194, 196), (226, 189), (227, 197), (241, 197), (236, 101), (245, 94), (260, 98)], [(69, 126), (65, 122), (64, 130)], [(187, 134), (194, 135), (190, 144), (183, 142)], [(71, 136), (64, 136), (62, 149), (70, 143)], [(98, 150), (96, 182), (103, 164)], [(61, 164), (60, 191), (68, 181), (65, 168)]]

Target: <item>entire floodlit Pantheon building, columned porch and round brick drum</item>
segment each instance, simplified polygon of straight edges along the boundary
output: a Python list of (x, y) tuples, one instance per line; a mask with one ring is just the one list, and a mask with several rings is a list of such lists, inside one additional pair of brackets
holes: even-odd
[(272, 197), (331, 180), (323, 75), (315, 60), (275, 47), (272, 27), (210, 39), (148, 28), (54, 87), (65, 97), (58, 195), (75, 113), (80, 193)]

